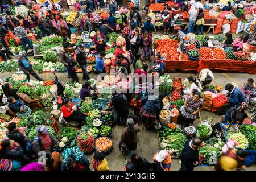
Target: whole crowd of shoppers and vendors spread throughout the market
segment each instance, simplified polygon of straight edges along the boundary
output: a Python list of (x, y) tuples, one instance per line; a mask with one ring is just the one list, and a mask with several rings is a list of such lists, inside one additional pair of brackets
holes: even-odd
[[(35, 32), (35, 27), (39, 26), (41, 30), (40, 36), (49, 36), (52, 34), (63, 36), (64, 42), (62, 44), (63, 48), (59, 51), (59, 60), (67, 68), (68, 78), (72, 78), (73, 82), (81, 82), (75, 71), (76, 64), (79, 64), (83, 72), (82, 78), (84, 80), (84, 84), (79, 93), (80, 99), (84, 100), (86, 97), (96, 99), (98, 92), (95, 88), (92, 88), (91, 82), (88, 81), (90, 80), (90, 76), (87, 71), (88, 52), (86, 52), (85, 44), (81, 43), (79, 46), (76, 46), (76, 58), (74, 59), (74, 55), (69, 53), (69, 49), (75, 45), (67, 41), (67, 38), (71, 35), (68, 23), (65, 22), (61, 15), (52, 14), (52, 11), (61, 10), (60, 5), (50, 1), (47, 7), (49, 15), (43, 15), (42, 18), (38, 18), (37, 13), (41, 7), (36, 1), (31, 1), (31, 3), (27, 5), (31, 7), (31, 10), (28, 12), (26, 18), (11, 15), (8, 11), (8, 6), (1, 9), (1, 11), (6, 14), (5, 18), (0, 17), (0, 41), (5, 48), (4, 50), (1, 49), (3, 60), (6, 61), (6, 57), (10, 58), (10, 56), (13, 56), (9, 46), (7, 46), (7, 43), (3, 39), (7, 31), (14, 31), (14, 34), (20, 39), (26, 55), (30, 55), (27, 44), (29, 49), (33, 49), (31, 40), (28, 39), (28, 33)], [(81, 5), (79, 1), (77, 1), (73, 6), (77, 12), (76, 18), (80, 19), (80, 24), (76, 27), (78, 34), (81, 34), (84, 30), (96, 31), (96, 34), (92, 38), (95, 50), (98, 52), (96, 55), (94, 73), (105, 73), (104, 57), (106, 56), (105, 47), (108, 39), (106, 35), (117, 29), (117, 19), (113, 16), (113, 13), (119, 8), (117, 7), (117, 2), (115, 2), (115, 0), (110, 1), (109, 18), (97, 28), (92, 27), (90, 20), (86, 19), (84, 14), (86, 14), (86, 17), (90, 17), (93, 7), (95, 7), (96, 10), (100, 10), (101, 7), (105, 6), (102, 1), (89, 0), (88, 2), (83, 2)], [(168, 35), (171, 29), (172, 9), (166, 3), (164, 3), (163, 6), (163, 34)], [(184, 10), (189, 12), (188, 33), (194, 32), (193, 30), (196, 24), (197, 34), (199, 33), (199, 28), (201, 34), (203, 34), (202, 25), (204, 24), (204, 12), (202, 3), (190, 1), (188, 6), (188, 4), (184, 4), (183, 1), (179, 1), (179, 6), (184, 6)], [(229, 10), (229, 7), (230, 4), (225, 6), (224, 9)], [(148, 13), (147, 8), (148, 3), (145, 7)], [(197, 11), (197, 9), (199, 9), (199, 11)], [(123, 22), (121, 33), (126, 40), (126, 44), (115, 45), (117, 47), (114, 52), (115, 61), (112, 63), (115, 67), (115, 76), (118, 78), (115, 84), (122, 84), (123, 82), (129, 84), (128, 74), (132, 72), (131, 65), (133, 65), (134, 73), (137, 73), (139, 76), (150, 75), (154, 77), (154, 75), (164, 75), (164, 61), (166, 60), (166, 55), (161, 55), (160, 52), (157, 52), (153, 57), (152, 33), (155, 31), (155, 26), (152, 23), (152, 19), (147, 17), (146, 21), (143, 22), (137, 7), (132, 6), (131, 2), (129, 2), (129, 11), (130, 17), (126, 16), (126, 14), (122, 14)], [(181, 44), (184, 35), (185, 33), (183, 31), (174, 31), (174, 36), (177, 36)], [(240, 36), (233, 42), (230, 33), (226, 34), (226, 37), (226, 47), (232, 47), (234, 50), (241, 50), (243, 43), (248, 39), (247, 36)], [(123, 50), (122, 46), (125, 47), (126, 51)], [(125, 53), (130, 53), (130, 59), (125, 56)], [(150, 60), (152, 60), (152, 65), (149, 69), (148, 63)], [(30, 75), (43, 81), (43, 78), (39, 77), (32, 69), (27, 56), (19, 56), (18, 65), (20, 70), (27, 75), (28, 81), (30, 80)], [(125, 75), (126, 78), (123, 80), (120, 75)], [(209, 69), (204, 69), (201, 71), (198, 78), (189, 76), (184, 81), (184, 85), (186, 85), (183, 91), (185, 104), (180, 108), (179, 122), (181, 125), (185, 127), (192, 126), (195, 119), (200, 117), (199, 111), (203, 109), (203, 100), (200, 92), (205, 90), (206, 86), (209, 85), (213, 79), (213, 73)], [(154, 80), (153, 83), (155, 83)], [(63, 114), (64, 120), (67, 122), (76, 121), (79, 123), (78, 127), (85, 125), (85, 114), (82, 113), (78, 107), (74, 106), (69, 98), (65, 97), (60, 82), (56, 82), (56, 84), (59, 89), (58, 95), (62, 98), (61, 113)], [(153, 85), (153, 87), (154, 86), (155, 85)], [(254, 88), (255, 85), (252, 78), (247, 80), (242, 90), (231, 83), (226, 84), (225, 90), (227, 91), (228, 102), (216, 113), (216, 115), (225, 115), (222, 122), (226, 123), (239, 120), (241, 124), (243, 119), (247, 118), (245, 108), (250, 102), (250, 90)], [(22, 113), (24, 117), (32, 113), (30, 107), (27, 106), (26, 100), (28, 98), (26, 96), (19, 96), (13, 89), (13, 86), (8, 83), (3, 85), (2, 89), (7, 97), (7, 112), (9, 112), (10, 115), (19, 117), (19, 114)], [(138, 124), (143, 123), (145, 130), (154, 129), (156, 121), (159, 120), (160, 111), (164, 106), (164, 94), (160, 93), (156, 95), (154, 93), (145, 93), (134, 95), (130, 93), (120, 93), (119, 91), (118, 89), (112, 89), (112, 97), (109, 103), (113, 106), (115, 123), (117, 123), (117, 125), (126, 125), (122, 130), (121, 138), (118, 142), (118, 148), (122, 154), (129, 155), (129, 160), (124, 170), (171, 170), (172, 159), (167, 151), (157, 151), (156, 154), (152, 156), (152, 163), (135, 152), (135, 150), (137, 150), (138, 133), (141, 131)], [(133, 113), (129, 112), (129, 105)], [(239, 115), (234, 113), (238, 112), (242, 114), (242, 117), (234, 118)], [(56, 151), (51, 152), (51, 148), (59, 144), (59, 141), (49, 133), (48, 128), (45, 126), (38, 126), (36, 128), (38, 136), (32, 141), (28, 141), (24, 129), (18, 129), (15, 123), (10, 123), (7, 129), (7, 137), (9, 139), (3, 140), (0, 145), (1, 170), (89, 171), (92, 169), (90, 168), (90, 161), (77, 146), (65, 148), (62, 154)], [(204, 145), (205, 143), (200, 138), (189, 138), (187, 140), (183, 152), (181, 153), (181, 171), (193, 171), (193, 168), (199, 165), (198, 150)], [(228, 152), (224, 152), (222, 149), (223, 154), (216, 165), (216, 170), (244, 169), (243, 161), (247, 156), (246, 151), (234, 150), (235, 146), (230, 147), (228, 143), (226, 145), (229, 147), (229, 150)], [(46, 152), (47, 161), (45, 164), (39, 163), (37, 160), (40, 157), (39, 151)], [(230, 166), (228, 164), (230, 164)], [(105, 156), (98, 151), (93, 153), (92, 166), (95, 171), (109, 170)]]

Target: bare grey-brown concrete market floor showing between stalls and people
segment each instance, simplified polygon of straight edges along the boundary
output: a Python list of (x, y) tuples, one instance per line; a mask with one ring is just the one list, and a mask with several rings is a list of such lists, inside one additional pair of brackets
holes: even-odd
[[(1, 77), (10, 77), (13, 73), (0, 73)], [(187, 78), (188, 76), (193, 76), (193, 77), (197, 77), (197, 73), (168, 73), (170, 74), (172, 77), (181, 77), (183, 79)], [(220, 85), (220, 86), (225, 86), (225, 84), (227, 82), (236, 82), (238, 84), (238, 86), (241, 87), (241, 85), (243, 84), (243, 77), (245, 77), (245, 79), (247, 80), (247, 78), (254, 78), (254, 80), (256, 80), (256, 76), (255, 75), (251, 75), (251, 74), (247, 74), (247, 73), (220, 73), (220, 72), (213, 72), (214, 74), (214, 81), (213, 81), (213, 85)], [(56, 74), (61, 81), (63, 82), (67, 82), (70, 81), (67, 78), (66, 73), (57, 73)], [(54, 80), (54, 75), (53, 73), (42, 73), (39, 74), (40, 77), (44, 78), (44, 80)], [(78, 76), (80, 78), (80, 80), (82, 80), (82, 74), (78, 73)], [(91, 78), (97, 78), (96, 75), (90, 74)], [(32, 78), (33, 80), (35, 80), (34, 78)], [(46, 110), (47, 113), (50, 113), (51, 110), (47, 109)], [(216, 115), (214, 115), (213, 113), (210, 112), (206, 112), (206, 111), (201, 111), (200, 112), (201, 118), (197, 119), (194, 123), (195, 126), (197, 126), (200, 121), (207, 119), (208, 117), (212, 116), (213, 121), (212, 123), (217, 123), (220, 121), (221, 116), (217, 117)], [(142, 128), (142, 126), (141, 126)], [(110, 170), (122, 170), (123, 166), (124, 166), (124, 162), (127, 159), (127, 157), (122, 156), (118, 150), (117, 147), (117, 142), (119, 140), (119, 138), (121, 137), (121, 130), (123, 129), (123, 126), (115, 126), (113, 128), (113, 151), (106, 156), (106, 159), (108, 160), (109, 163), (109, 169)], [(140, 133), (138, 133), (138, 148), (137, 148), (137, 152), (139, 155), (144, 156), (146, 159), (148, 159), (150, 162), (152, 162), (152, 156), (155, 154), (156, 151), (159, 150), (159, 140), (158, 140), (158, 135), (155, 131), (144, 131), (143, 129), (141, 130)], [(90, 161), (92, 161), (92, 154), (88, 155), (88, 158), (90, 159)], [(180, 164), (179, 164), (179, 160), (178, 159), (172, 159), (172, 170), (178, 170), (180, 168)], [(253, 165), (251, 167), (249, 167), (248, 169), (250, 170), (254, 170), (256, 171), (256, 165)], [(203, 167), (203, 166), (199, 166), (196, 167), (195, 170), (212, 170), (212, 167)]]

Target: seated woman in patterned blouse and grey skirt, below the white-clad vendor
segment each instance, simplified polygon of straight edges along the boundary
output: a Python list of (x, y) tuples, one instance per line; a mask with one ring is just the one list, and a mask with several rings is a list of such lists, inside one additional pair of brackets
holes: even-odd
[(188, 96), (185, 104), (180, 107), (180, 122), (185, 127), (193, 125), (196, 118), (199, 118), (199, 111), (203, 109), (203, 100), (200, 98), (200, 92), (193, 96)]

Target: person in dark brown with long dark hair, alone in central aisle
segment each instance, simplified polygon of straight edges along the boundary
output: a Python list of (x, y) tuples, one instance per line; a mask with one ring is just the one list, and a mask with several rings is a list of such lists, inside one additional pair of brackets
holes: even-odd
[(124, 155), (137, 149), (137, 133), (140, 131), (139, 126), (137, 124), (134, 125), (132, 118), (127, 119), (126, 126), (122, 130), (121, 138), (118, 142), (119, 150)]

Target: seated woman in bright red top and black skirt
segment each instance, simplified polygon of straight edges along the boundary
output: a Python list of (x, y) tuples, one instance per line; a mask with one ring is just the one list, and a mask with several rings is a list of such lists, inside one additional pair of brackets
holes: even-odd
[(77, 107), (72, 104), (69, 98), (66, 98), (63, 104), (61, 112), (63, 113), (65, 121), (77, 121), (81, 125), (86, 121), (85, 115), (81, 113), (81, 111), (77, 110)]

